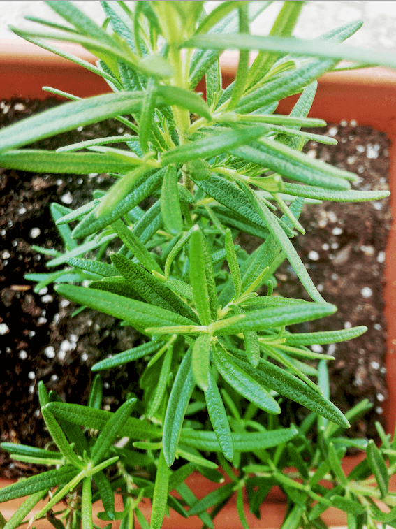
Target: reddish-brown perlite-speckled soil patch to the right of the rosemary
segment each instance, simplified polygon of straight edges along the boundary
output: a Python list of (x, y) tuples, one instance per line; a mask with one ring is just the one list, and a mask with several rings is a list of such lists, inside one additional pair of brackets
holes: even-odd
[[(352, 189), (389, 189), (390, 141), (385, 133), (355, 122), (329, 124), (326, 130), (338, 145), (310, 141), (305, 146), (309, 156), (358, 175)], [(387, 397), (383, 286), (386, 242), (392, 222), (390, 199), (306, 205), (300, 220), (307, 234), (295, 238), (295, 248), (325, 300), (338, 307), (333, 316), (304, 324), (300, 330), (367, 326), (367, 332), (359, 338), (312, 349), (335, 356), (335, 361), (328, 364), (335, 405), (345, 412), (362, 398), (374, 404), (372, 411), (346, 435), (375, 437), (374, 423), (382, 422), (382, 405)], [(277, 279), (281, 294), (309, 299), (288, 263), (279, 269)]]

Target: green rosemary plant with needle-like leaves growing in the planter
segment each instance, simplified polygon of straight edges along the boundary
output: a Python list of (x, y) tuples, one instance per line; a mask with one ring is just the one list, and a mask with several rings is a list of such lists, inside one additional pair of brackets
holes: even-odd
[[(64, 25), (29, 17), (44, 29), (13, 28), (94, 71), (112, 90), (80, 99), (46, 88), (71, 101), (0, 132), (3, 167), (114, 178), (108, 192), (96, 191), (77, 210), (52, 206), (65, 250), (47, 263), (56, 271), (40, 277), (36, 289), (54, 281), (62, 296), (144, 335), (141, 345), (96, 363), (95, 372), (137, 359), (146, 368), (141, 396), (114, 413), (101, 410), (100, 375), (87, 405), (61, 402), (38, 384), (43, 420), (58, 451), (1, 445), (19, 461), (50, 467), (0, 491), (0, 501), (28, 496), (9, 521), (0, 521), (3, 529), (21, 526), (26, 516), (33, 524), (47, 518), (57, 529), (97, 527), (92, 503), (99, 499), (106, 528), (115, 520), (122, 529), (133, 528), (137, 519), (144, 529), (159, 529), (170, 509), (214, 528), (234, 493), (248, 528), (247, 518), (261, 516), (274, 485), (288, 498), (284, 529), (325, 528), (321, 514), (330, 506), (346, 511), (349, 529), (374, 528), (376, 522), (396, 528), (396, 495), (388, 491), (396, 440), (381, 426), (379, 448), (344, 435), (349, 421), (371, 405), (362, 401), (344, 416), (329, 400), (326, 363), (332, 357), (309, 349), (350, 340), (365, 327), (288, 330), (336, 310), (291, 242), (304, 233), (298, 221), (303, 205), (388, 195), (355, 191), (354, 174), (302, 154), (308, 138), (335, 143), (300, 130), (325, 125), (307, 117), (316, 79), (339, 69), (340, 59), (353, 67), (396, 67), (396, 57), (342, 44), (361, 22), (314, 40), (293, 38), (300, 1), (278, 2), (270, 36), (249, 34), (250, 23), (270, 3), (224, 1), (207, 14), (202, 1), (102, 1), (100, 27), (73, 3), (47, 1)], [(98, 57), (96, 66), (59, 50), (51, 39), (82, 44)], [(240, 59), (235, 81), (223, 89), (219, 55), (226, 49), (240, 50)], [(251, 66), (250, 50), (258, 51)], [(206, 98), (196, 91), (204, 78)], [(279, 100), (291, 94), (300, 94), (291, 114), (275, 115)], [(24, 148), (109, 117), (130, 133), (57, 152)], [(143, 207), (148, 197), (152, 205)], [(71, 230), (73, 221), (78, 224)], [(240, 232), (261, 238), (262, 245), (247, 254), (234, 244)], [(115, 239), (122, 245), (110, 252)], [(311, 301), (274, 294), (274, 272), (284, 259)], [(301, 424), (281, 426), (286, 399), (311, 410)], [(198, 411), (205, 419), (186, 419)], [(348, 447), (367, 457), (346, 475), (340, 461)], [(285, 473), (288, 467), (295, 471)], [(198, 500), (186, 484), (196, 471), (221, 486)], [(244, 488), (251, 514), (244, 510)], [(122, 495), (119, 512), (115, 493)], [(44, 498), (44, 507), (29, 517)], [(149, 521), (140, 510), (147, 498)], [(379, 499), (389, 512), (378, 507)]]

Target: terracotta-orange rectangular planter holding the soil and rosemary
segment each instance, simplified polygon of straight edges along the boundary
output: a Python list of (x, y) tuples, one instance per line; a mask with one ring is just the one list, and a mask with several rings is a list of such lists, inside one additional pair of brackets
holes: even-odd
[[(78, 45), (59, 43), (59, 48), (78, 55), (92, 64), (95, 57)], [(221, 57), (223, 81), (228, 85), (235, 75), (237, 54), (233, 53)], [(52, 94), (43, 92), (41, 87), (51, 86), (71, 92), (81, 97), (94, 96), (103, 92), (110, 92), (105, 81), (94, 73), (86, 71), (70, 61), (57, 57), (50, 52), (41, 50), (35, 45), (19, 40), (0, 40), (0, 99), (10, 99), (13, 96), (28, 97), (30, 99), (45, 99)], [(203, 89), (203, 87), (198, 87)], [(291, 110), (295, 97), (281, 101), (279, 113)], [(342, 119), (355, 119), (358, 124), (374, 126), (379, 131), (388, 134), (391, 140), (390, 149), (390, 187), (396, 187), (396, 72), (384, 68), (367, 68), (362, 71), (330, 73), (319, 82), (318, 92), (311, 109), (311, 117), (321, 117), (329, 122), (340, 122)], [(392, 208), (395, 209), (395, 192), (392, 197)], [(396, 217), (396, 213), (394, 215)], [(384, 403), (386, 430), (393, 433), (396, 421), (396, 227), (390, 232), (386, 252), (386, 287), (384, 292), (386, 303), (386, 319), (388, 322), (388, 352), (386, 356), (388, 400)], [(349, 472), (362, 456), (344, 459), (344, 469)], [(226, 478), (226, 481), (229, 481)], [(0, 480), (0, 488), (9, 481)], [(200, 474), (193, 474), (187, 480), (198, 498), (210, 492), (217, 485), (212, 484)], [(393, 479), (393, 490), (396, 490), (396, 479)], [(0, 505), (0, 511), (6, 519), (12, 516), (21, 500), (13, 500)], [(100, 503), (98, 511), (103, 510)], [(121, 498), (116, 500), (116, 510), (122, 510)], [(146, 519), (149, 519), (150, 505), (147, 501), (142, 507)], [(233, 497), (216, 518), (217, 528), (242, 527), (236, 514), (236, 499)], [(38, 509), (36, 509), (38, 512)], [(261, 520), (251, 515), (248, 507), (245, 514), (251, 529), (279, 528), (284, 520), (286, 503), (284, 496), (277, 488), (273, 488), (265, 503), (261, 506)], [(340, 526), (346, 523), (346, 516), (338, 509), (328, 509), (323, 519), (330, 526)], [(105, 526), (105, 522), (94, 519), (98, 526)], [(50, 528), (50, 523), (41, 521), (35, 523), (37, 529)], [(114, 524), (116, 526), (116, 524)], [(202, 522), (198, 517), (182, 519), (175, 512), (165, 519), (163, 528), (176, 526), (183, 528), (200, 528)]]

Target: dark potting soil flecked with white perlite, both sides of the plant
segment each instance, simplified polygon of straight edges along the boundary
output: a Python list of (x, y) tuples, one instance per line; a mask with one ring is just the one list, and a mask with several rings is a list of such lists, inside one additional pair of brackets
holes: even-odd
[[(15, 99), (0, 103), (0, 126), (56, 105), (58, 101)], [(337, 132), (335, 130), (337, 129)], [(114, 119), (85, 126), (77, 131), (41, 140), (32, 147), (55, 150), (95, 136), (114, 136), (129, 130)], [(308, 143), (310, 156), (348, 168), (360, 175), (354, 189), (387, 189), (388, 139), (369, 127), (344, 124), (330, 126), (328, 133), (339, 140), (337, 147)], [(50, 441), (43, 428), (37, 398), (38, 381), (56, 391), (69, 403), (87, 403), (91, 365), (109, 354), (138, 345), (142, 336), (131, 328), (96, 311), (84, 310), (73, 319), (77, 308), (59, 298), (48, 286), (38, 294), (26, 273), (47, 272), (51, 259), (38, 254), (32, 245), (63, 249), (50, 217), (49, 205), (59, 202), (72, 209), (91, 200), (94, 189), (106, 189), (107, 175), (41, 175), (0, 168), (0, 440), (43, 447)], [(381, 420), (381, 403), (386, 398), (383, 356), (383, 257), (390, 226), (388, 201), (353, 205), (323, 203), (309, 205), (302, 214), (307, 235), (294, 244), (318, 289), (339, 307), (331, 318), (302, 331), (344, 328), (365, 324), (361, 338), (328, 346), (332, 362), (332, 400), (343, 411), (364, 397), (374, 411), (358, 422), (353, 435), (374, 435), (374, 421)], [(247, 245), (254, 245), (251, 240)], [(277, 273), (279, 294), (307, 298), (293, 270), (284, 264)], [(112, 410), (129, 392), (139, 393), (138, 363), (103, 372), (103, 404)], [(135, 385), (134, 385), (135, 384)], [(298, 417), (305, 410), (293, 404), (288, 412)], [(10, 461), (0, 451), (0, 475), (27, 476), (38, 468)]]

